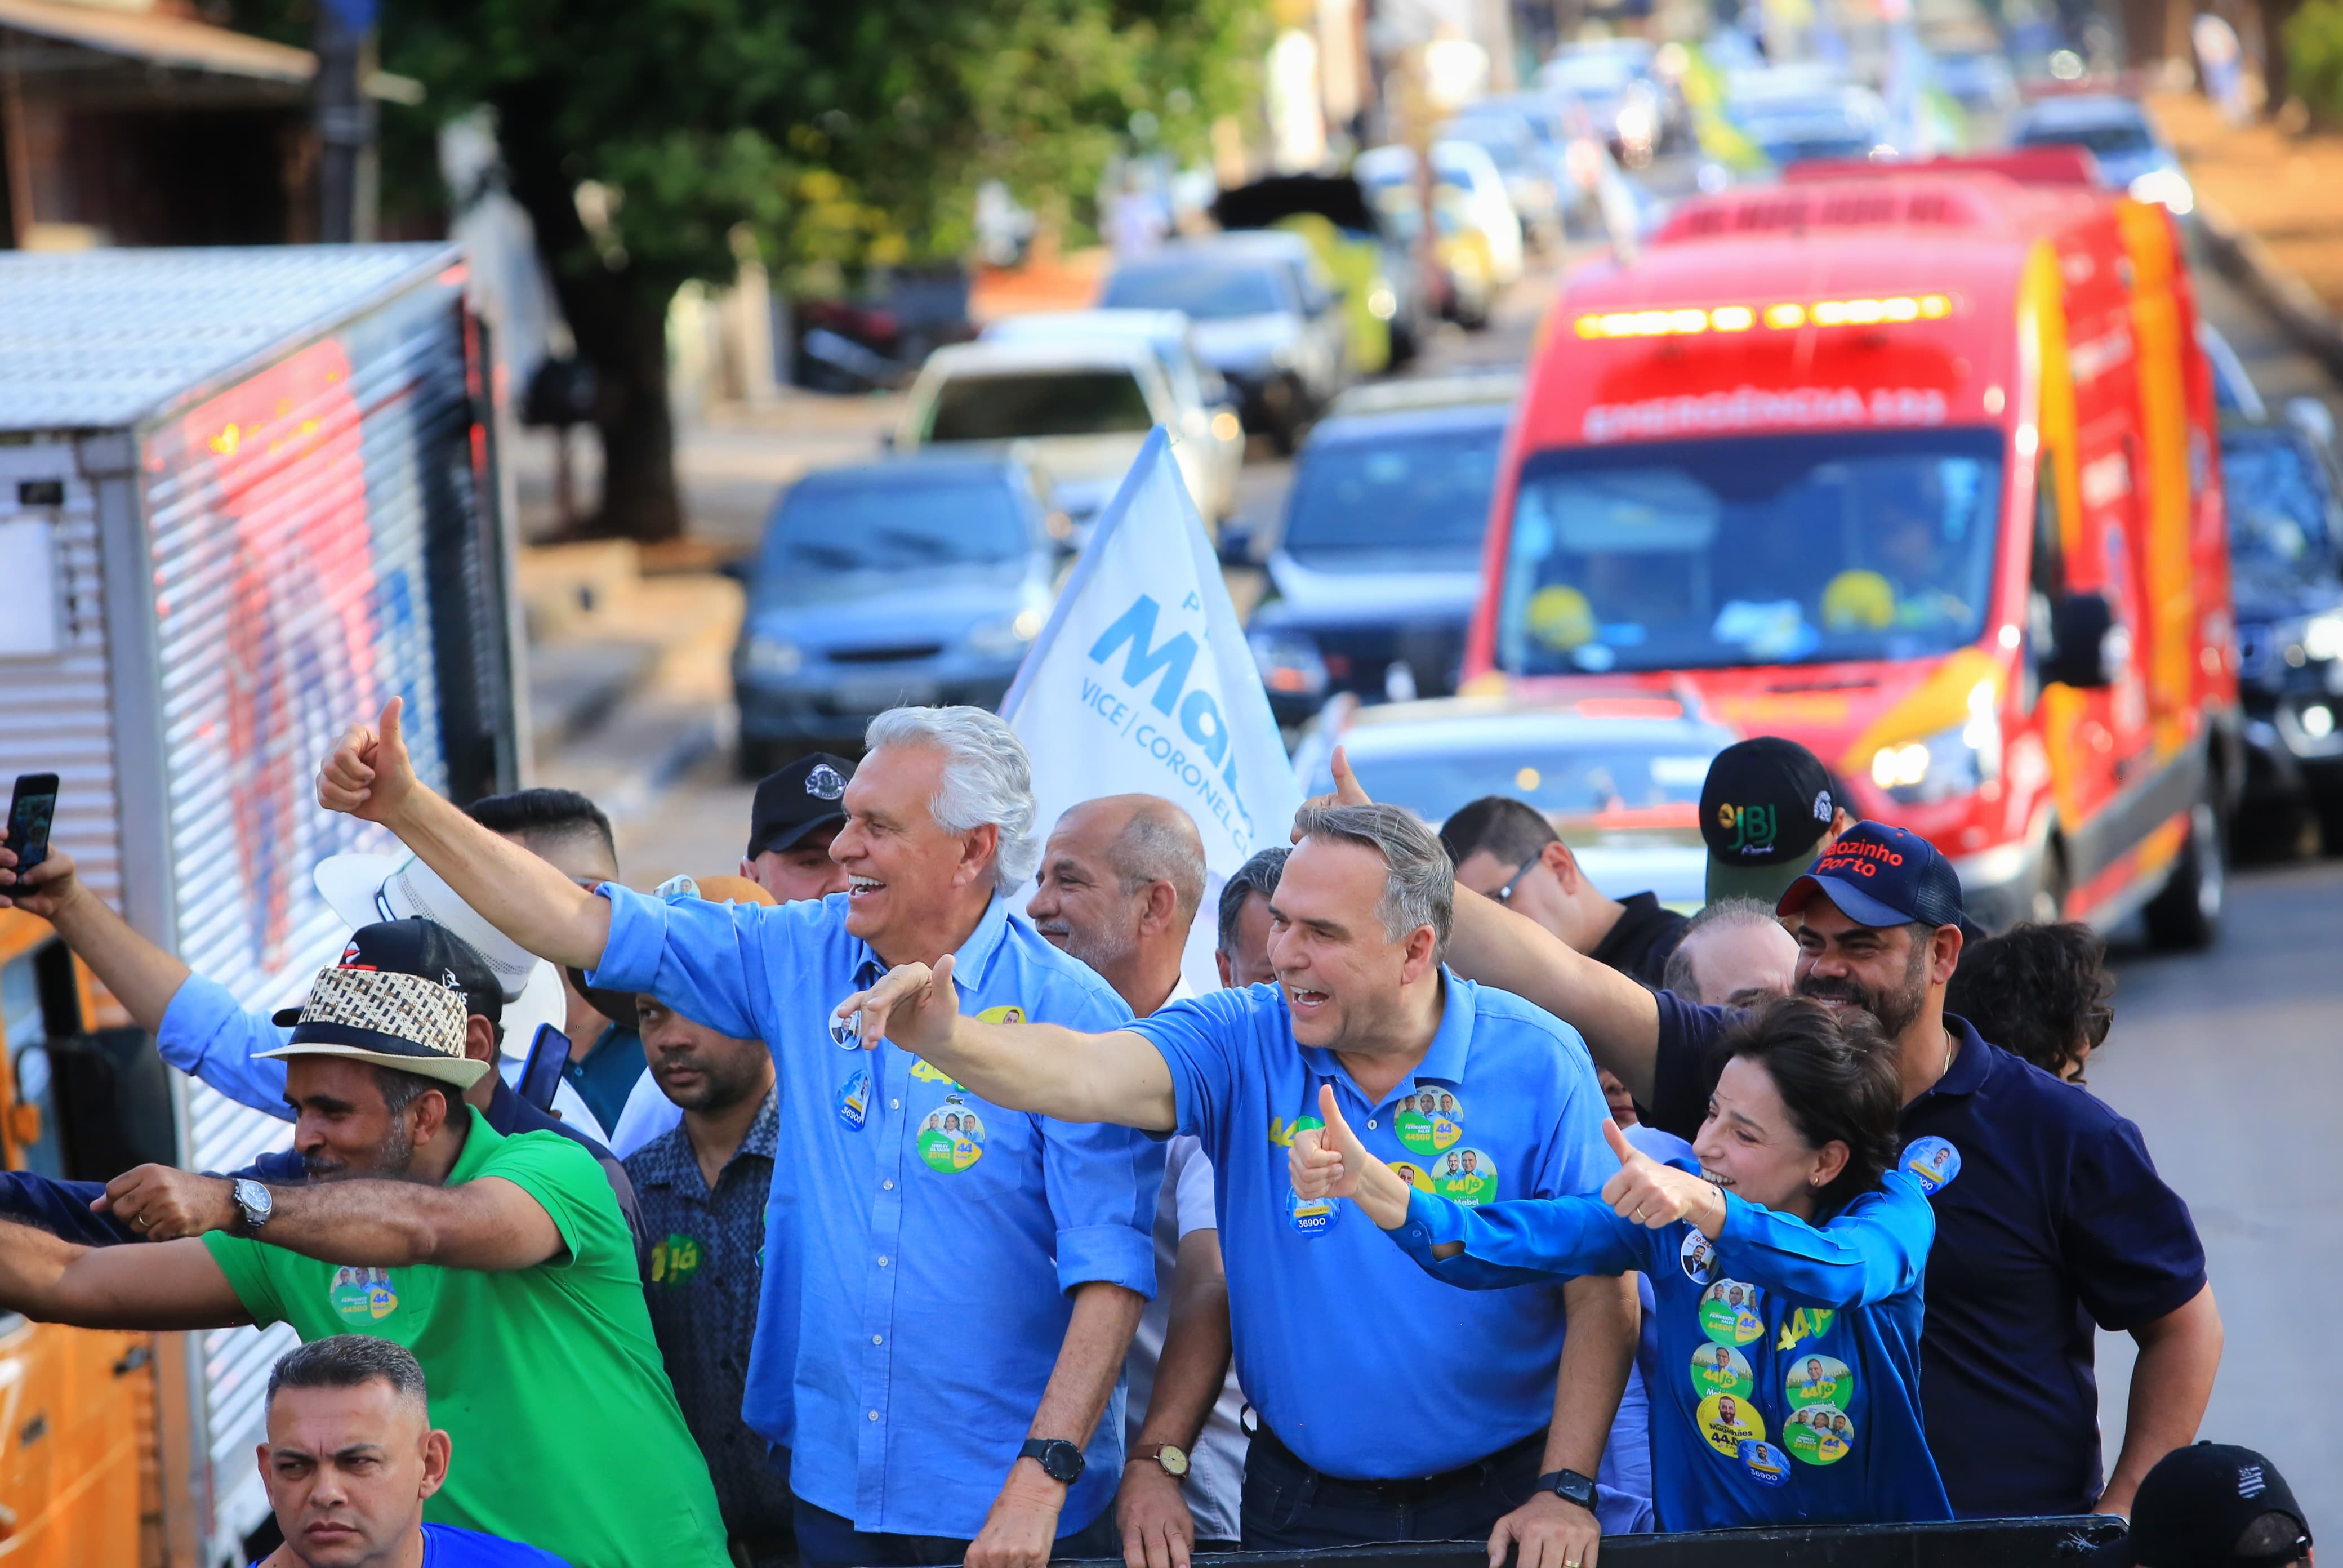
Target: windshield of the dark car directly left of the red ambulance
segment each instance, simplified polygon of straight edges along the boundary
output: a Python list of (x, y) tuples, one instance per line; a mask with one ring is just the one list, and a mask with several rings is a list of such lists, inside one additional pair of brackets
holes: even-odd
[(1293, 476), (1284, 548), (1303, 565), (1471, 570), (1488, 534), (1502, 424), (1310, 448)]

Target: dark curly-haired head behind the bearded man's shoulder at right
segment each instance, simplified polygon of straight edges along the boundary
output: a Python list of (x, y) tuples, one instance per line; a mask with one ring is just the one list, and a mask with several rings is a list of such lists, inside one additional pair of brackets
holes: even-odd
[(1961, 949), (1945, 1010), (2052, 1078), (2083, 1083), (2116, 1022), (2106, 938), (2081, 921), (2013, 926)]

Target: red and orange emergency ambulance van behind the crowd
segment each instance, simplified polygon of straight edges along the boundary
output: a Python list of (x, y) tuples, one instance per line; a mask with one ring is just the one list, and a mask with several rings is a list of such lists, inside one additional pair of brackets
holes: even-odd
[(1467, 689), (1640, 687), (1813, 748), (1970, 912), (2214, 938), (2240, 769), (2179, 232), (2055, 148), (1699, 197), (1574, 277)]

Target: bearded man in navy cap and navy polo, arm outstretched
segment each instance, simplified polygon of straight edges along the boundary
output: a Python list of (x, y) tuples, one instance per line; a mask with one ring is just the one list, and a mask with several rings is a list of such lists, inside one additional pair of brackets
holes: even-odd
[[(1366, 799), (1336, 762), (1343, 799)], [(2130, 1512), (2142, 1477), (2195, 1437), (2221, 1362), (2221, 1315), (2188, 1205), (2139, 1127), (1987, 1045), (1945, 1013), (1961, 961), (1961, 881), (1933, 844), (1856, 823), (1792, 881), (1797, 989), (1867, 1008), (1903, 1069), (1903, 1170), (1935, 1205), (1921, 1338), (1928, 1446), (1959, 1514)], [(1570, 952), (1457, 891), (1450, 966), (1570, 1020), (1652, 1125), (1694, 1137), (1724, 1008), (1701, 1008)], [(2139, 1362), (2123, 1453), (2102, 1484), (2092, 1324)], [(1828, 1355), (1818, 1327), (1818, 1352)], [(1797, 1348), (1797, 1345), (1783, 1345)], [(1858, 1434), (1860, 1441), (1860, 1434)]]

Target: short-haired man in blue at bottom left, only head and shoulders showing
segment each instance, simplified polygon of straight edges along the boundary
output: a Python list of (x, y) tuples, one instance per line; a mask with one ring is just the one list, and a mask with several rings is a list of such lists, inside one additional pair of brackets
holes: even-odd
[(424, 1523), (452, 1444), (405, 1345), (335, 1334), (269, 1369), (260, 1484), (284, 1545), (253, 1568), (565, 1568), (501, 1535)]

